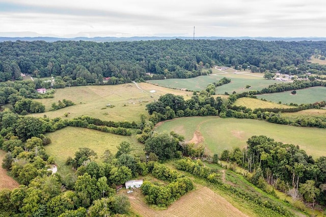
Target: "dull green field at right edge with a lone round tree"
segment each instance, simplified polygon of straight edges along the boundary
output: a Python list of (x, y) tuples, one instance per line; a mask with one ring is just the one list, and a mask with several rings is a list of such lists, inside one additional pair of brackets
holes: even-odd
[(257, 98), (266, 99), (267, 101), (282, 103), (314, 103), (326, 100), (326, 87), (312, 87), (302, 90), (296, 90), (296, 94), (292, 95), (291, 91), (281, 93), (269, 93), (257, 95)]

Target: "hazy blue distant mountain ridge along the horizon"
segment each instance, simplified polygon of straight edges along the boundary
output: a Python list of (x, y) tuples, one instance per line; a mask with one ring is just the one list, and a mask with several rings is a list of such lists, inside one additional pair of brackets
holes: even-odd
[[(113, 41), (149, 41), (149, 40), (171, 40), (171, 39), (193, 39), (193, 37), (0, 37), (0, 42), (4, 41), (94, 41), (94, 42), (113, 42)], [(326, 41), (326, 37), (195, 37), (195, 40), (259, 40), (259, 41)]]

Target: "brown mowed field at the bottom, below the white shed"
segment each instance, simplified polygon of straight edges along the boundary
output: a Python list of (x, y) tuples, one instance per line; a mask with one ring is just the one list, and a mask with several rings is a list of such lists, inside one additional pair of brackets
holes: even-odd
[(248, 216), (234, 207), (226, 199), (214, 193), (208, 187), (201, 187), (195, 191), (182, 196), (166, 210), (154, 210), (144, 202), (144, 197), (140, 190), (127, 195), (131, 203), (131, 208), (144, 217), (153, 216)]

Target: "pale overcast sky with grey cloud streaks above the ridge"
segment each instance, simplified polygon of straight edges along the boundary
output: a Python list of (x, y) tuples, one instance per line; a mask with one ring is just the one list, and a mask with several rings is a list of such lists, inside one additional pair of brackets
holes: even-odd
[(326, 0), (0, 0), (0, 36), (192, 37), (194, 26), (195, 37), (326, 37)]

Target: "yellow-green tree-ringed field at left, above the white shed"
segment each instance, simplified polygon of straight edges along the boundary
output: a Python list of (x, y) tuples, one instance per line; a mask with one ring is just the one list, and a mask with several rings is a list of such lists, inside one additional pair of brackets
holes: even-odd
[[(93, 149), (100, 157), (106, 149), (113, 154), (122, 142), (129, 142), (134, 152), (141, 152), (144, 146), (134, 137), (116, 135), (107, 132), (77, 127), (66, 127), (61, 130), (46, 134), (51, 139), (51, 144), (45, 146), (46, 153), (55, 157), (58, 164), (63, 165), (67, 157), (74, 157), (78, 148), (88, 147)], [(60, 170), (60, 168), (59, 168)]]

